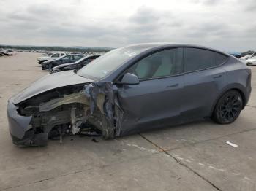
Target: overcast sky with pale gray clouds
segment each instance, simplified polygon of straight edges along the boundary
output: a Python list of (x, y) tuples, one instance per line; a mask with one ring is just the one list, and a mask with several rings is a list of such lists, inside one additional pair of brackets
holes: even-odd
[(0, 44), (256, 50), (256, 0), (0, 0)]

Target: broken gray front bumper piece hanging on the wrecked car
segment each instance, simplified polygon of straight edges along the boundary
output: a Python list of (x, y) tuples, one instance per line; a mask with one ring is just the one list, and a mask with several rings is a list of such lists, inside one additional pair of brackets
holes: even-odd
[(31, 116), (21, 116), (17, 112), (18, 107), (9, 100), (7, 104), (7, 117), (9, 131), (13, 144), (23, 146), (43, 146), (48, 139), (47, 133), (34, 134), (30, 122)]

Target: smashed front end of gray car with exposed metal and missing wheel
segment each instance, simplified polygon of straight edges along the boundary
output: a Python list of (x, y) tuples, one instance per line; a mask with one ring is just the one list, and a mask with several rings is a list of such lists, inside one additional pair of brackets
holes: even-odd
[(48, 138), (94, 129), (105, 139), (116, 136), (115, 95), (111, 82), (62, 87), (18, 104), (8, 101), (14, 144), (44, 146)]

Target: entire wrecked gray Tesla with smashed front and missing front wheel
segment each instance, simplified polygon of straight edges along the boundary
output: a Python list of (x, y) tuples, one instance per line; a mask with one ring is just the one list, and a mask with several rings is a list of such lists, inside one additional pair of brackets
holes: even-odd
[(111, 139), (211, 117), (236, 120), (251, 93), (251, 70), (224, 52), (190, 44), (135, 44), (78, 71), (49, 74), (7, 106), (14, 144), (89, 130)]

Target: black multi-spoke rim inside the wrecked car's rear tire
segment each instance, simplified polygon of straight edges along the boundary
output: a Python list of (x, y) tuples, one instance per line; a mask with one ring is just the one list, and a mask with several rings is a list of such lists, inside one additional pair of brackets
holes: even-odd
[(241, 97), (239, 95), (227, 95), (220, 105), (220, 117), (225, 122), (233, 122), (241, 112)]

